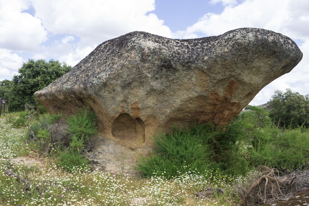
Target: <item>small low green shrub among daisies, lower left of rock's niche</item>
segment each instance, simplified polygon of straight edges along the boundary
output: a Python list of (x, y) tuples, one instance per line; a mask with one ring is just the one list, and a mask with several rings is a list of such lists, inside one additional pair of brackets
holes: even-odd
[(85, 167), (89, 161), (83, 157), (80, 151), (66, 150), (59, 154), (59, 165), (64, 169), (71, 171), (74, 167)]

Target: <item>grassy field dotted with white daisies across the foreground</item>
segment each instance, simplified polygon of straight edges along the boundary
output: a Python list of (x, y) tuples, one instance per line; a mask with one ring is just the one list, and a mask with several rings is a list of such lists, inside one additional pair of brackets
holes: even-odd
[[(7, 118), (13, 116), (6, 115)], [(237, 205), (240, 202), (239, 197), (233, 195), (232, 187), (238, 178), (215, 170), (204, 175), (195, 171), (180, 173), (171, 179), (158, 174), (146, 179), (132, 177), (126, 171), (112, 175), (87, 166), (74, 167), (67, 172), (57, 165), (56, 157), (38, 157), (29, 148), (32, 142), (27, 138), (28, 127), (12, 128), (7, 118), (0, 117), (0, 205), (196, 206)], [(18, 157), (43, 164), (16, 161)], [(221, 188), (224, 192), (205, 195), (207, 187)]]

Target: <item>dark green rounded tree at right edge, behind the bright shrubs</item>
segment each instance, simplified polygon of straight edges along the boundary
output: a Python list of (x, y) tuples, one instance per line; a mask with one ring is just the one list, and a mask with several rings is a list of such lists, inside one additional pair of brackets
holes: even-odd
[(303, 96), (290, 88), (286, 92), (276, 90), (268, 103), (269, 116), (279, 126), (309, 126), (309, 95)]

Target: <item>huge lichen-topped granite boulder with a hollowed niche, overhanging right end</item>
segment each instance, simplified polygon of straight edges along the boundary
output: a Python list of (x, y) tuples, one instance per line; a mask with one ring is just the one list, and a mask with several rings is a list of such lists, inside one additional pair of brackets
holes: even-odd
[(104, 137), (143, 147), (173, 125), (229, 124), (302, 56), (290, 38), (264, 29), (188, 40), (132, 32), (34, 95), (52, 114), (91, 107)]

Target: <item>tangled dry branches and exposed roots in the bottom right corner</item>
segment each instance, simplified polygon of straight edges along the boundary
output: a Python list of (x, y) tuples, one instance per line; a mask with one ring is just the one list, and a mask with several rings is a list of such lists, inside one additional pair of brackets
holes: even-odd
[(242, 199), (241, 206), (258, 203), (269, 204), (275, 200), (290, 198), (296, 192), (309, 187), (309, 170), (296, 170), (280, 176), (276, 169), (265, 166), (261, 166), (259, 169), (260, 173), (251, 174), (251, 178), (247, 178), (246, 182), (239, 179), (236, 193)]

